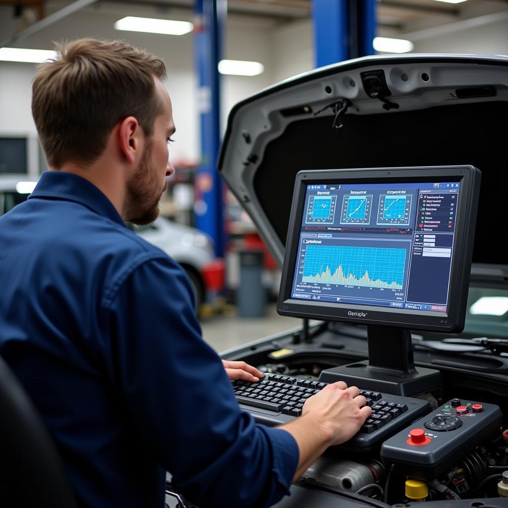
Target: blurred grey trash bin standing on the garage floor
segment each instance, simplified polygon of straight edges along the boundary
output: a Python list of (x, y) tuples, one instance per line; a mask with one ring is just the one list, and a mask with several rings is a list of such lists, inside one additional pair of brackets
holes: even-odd
[(266, 289), (263, 287), (262, 250), (240, 250), (240, 285), (237, 307), (241, 317), (262, 317), (266, 312)]

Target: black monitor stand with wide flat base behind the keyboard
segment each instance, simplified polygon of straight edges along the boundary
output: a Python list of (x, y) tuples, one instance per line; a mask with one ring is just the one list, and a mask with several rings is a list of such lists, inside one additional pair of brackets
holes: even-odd
[(438, 370), (415, 368), (411, 332), (393, 326), (367, 326), (369, 359), (321, 372), (323, 383), (344, 381), (347, 386), (393, 395), (415, 395), (442, 386)]

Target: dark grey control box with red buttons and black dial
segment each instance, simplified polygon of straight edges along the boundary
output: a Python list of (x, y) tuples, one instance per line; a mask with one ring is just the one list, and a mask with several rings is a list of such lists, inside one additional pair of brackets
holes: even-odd
[(406, 476), (431, 480), (499, 430), (501, 419), (497, 405), (452, 399), (387, 439), (381, 457)]

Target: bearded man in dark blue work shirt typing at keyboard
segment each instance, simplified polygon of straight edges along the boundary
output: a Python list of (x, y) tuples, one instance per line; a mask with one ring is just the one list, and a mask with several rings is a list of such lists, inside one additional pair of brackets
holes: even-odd
[[(269, 506), (370, 415), (343, 382), (256, 424), (201, 336), (185, 272), (125, 227), (158, 215), (175, 132), (164, 63), (118, 41), (57, 45), (33, 82), (50, 170), (0, 217), (0, 354), (54, 436), (79, 506)], [(229, 379), (228, 379), (229, 377)]]

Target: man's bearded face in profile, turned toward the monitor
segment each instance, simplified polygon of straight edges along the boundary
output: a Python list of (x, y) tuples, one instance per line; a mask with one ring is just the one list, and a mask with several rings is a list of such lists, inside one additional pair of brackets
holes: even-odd
[(125, 220), (139, 226), (152, 223), (161, 212), (158, 202), (168, 188), (166, 177), (174, 172), (169, 162), (169, 138), (175, 132), (171, 100), (164, 85), (155, 79), (156, 93), (163, 113), (155, 118), (153, 134), (146, 138), (138, 170), (127, 182)]

